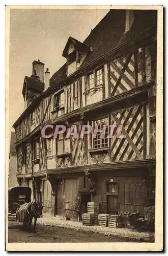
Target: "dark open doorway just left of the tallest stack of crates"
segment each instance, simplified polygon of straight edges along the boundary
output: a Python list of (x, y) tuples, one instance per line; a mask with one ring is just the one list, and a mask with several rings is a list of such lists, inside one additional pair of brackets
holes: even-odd
[(87, 214), (88, 212), (88, 202), (91, 202), (91, 193), (80, 193), (80, 221), (83, 219), (83, 214)]

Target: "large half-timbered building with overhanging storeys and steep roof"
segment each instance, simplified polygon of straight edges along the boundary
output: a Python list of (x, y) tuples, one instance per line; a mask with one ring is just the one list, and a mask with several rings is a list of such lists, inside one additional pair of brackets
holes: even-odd
[[(102, 213), (143, 214), (154, 204), (156, 51), (156, 10), (110, 10), (85, 41), (69, 37), (66, 63), (51, 78), (33, 62), (13, 125), (17, 179), (52, 216), (81, 220), (90, 201)], [(45, 124), (76, 124), (79, 133), (83, 124), (107, 128), (104, 138), (46, 139)], [(126, 138), (109, 138), (109, 125), (122, 125)]]

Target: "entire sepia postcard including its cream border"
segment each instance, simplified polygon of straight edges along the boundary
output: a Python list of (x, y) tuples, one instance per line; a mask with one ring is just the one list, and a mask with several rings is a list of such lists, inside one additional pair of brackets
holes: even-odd
[(162, 9), (6, 6), (7, 251), (162, 249)]

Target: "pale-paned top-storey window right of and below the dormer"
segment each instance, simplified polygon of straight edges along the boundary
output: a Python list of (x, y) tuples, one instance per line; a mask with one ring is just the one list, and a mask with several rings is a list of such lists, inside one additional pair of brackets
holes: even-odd
[(88, 75), (88, 89), (94, 89), (102, 84), (102, 69), (95, 70)]

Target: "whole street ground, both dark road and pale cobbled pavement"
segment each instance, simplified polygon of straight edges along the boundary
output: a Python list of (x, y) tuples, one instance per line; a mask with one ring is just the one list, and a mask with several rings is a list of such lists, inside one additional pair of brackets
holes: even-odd
[(38, 219), (36, 234), (23, 231), (22, 223), (14, 221), (14, 217), (9, 220), (9, 242), (154, 242), (152, 232), (83, 226), (81, 222), (66, 221), (59, 216), (44, 215)]

